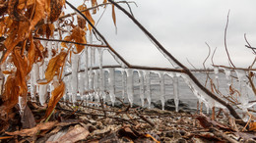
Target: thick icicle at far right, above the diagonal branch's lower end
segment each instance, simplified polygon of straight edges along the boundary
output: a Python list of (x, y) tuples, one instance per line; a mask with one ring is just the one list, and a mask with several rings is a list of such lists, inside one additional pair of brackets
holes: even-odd
[(247, 87), (246, 87), (246, 72), (243, 70), (235, 70), (239, 81), (240, 96), (238, 101), (241, 103), (241, 108), (244, 112), (247, 111), (247, 104), (249, 102)]

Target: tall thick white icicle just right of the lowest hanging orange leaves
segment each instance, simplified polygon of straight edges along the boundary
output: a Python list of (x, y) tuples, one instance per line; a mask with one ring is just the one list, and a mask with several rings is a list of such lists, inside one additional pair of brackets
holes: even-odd
[(78, 92), (78, 64), (79, 64), (79, 55), (72, 53), (71, 55), (71, 92), (72, 92), (72, 103), (77, 102), (77, 92)]

